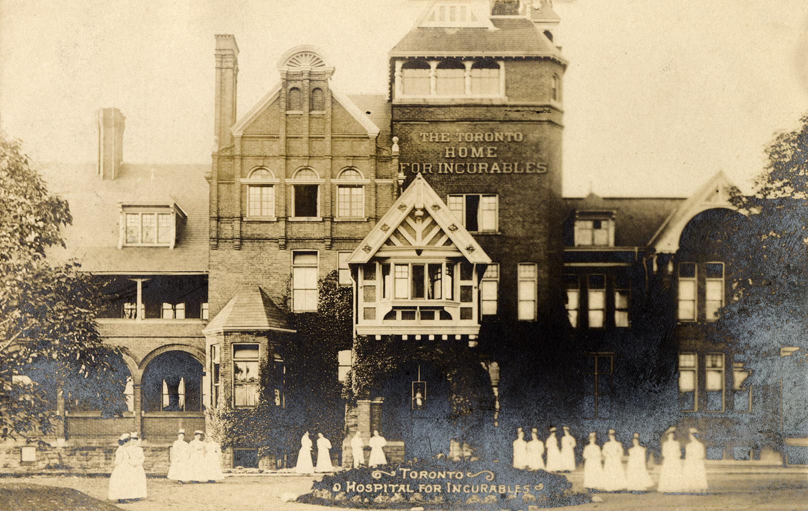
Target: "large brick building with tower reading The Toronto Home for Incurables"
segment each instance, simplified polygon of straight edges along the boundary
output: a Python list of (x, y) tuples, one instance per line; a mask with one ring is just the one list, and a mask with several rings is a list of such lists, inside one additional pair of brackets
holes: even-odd
[[(652, 289), (667, 290), (654, 315), (673, 325), (684, 424), (732, 422), (783, 399), (745, 386), (743, 354), (705, 340), (738, 277), (731, 240), (715, 234), (738, 214), (723, 175), (686, 199), (562, 196), (557, 26), (549, 0), (440, 0), (390, 51), (387, 94), (335, 90), (330, 62), (297, 47), (240, 118), (238, 45), (216, 36), (209, 167), (121, 163), (124, 118), (100, 111), (98, 167), (47, 175), (74, 213), (70, 255), (110, 290), (99, 329), (127, 353), (129, 409), (102, 419), (60, 403), (61, 435), (35, 466), (64, 450), (82, 467), (78, 448), (137, 430), (152, 470), (164, 470), (176, 429), (203, 428), (204, 408), (254, 407), (259, 367), (284, 373), (280, 346), (296, 335), (284, 310), (316, 313), (318, 281), (334, 271), (353, 289), (357, 339), (426, 354), (346, 408), (345, 433), (381, 430), (393, 460), (446, 411), (435, 360), (450, 349), (485, 368), (491, 420), (515, 425), (499, 409), (499, 379), (524, 360), (503, 347), (529, 358), (573, 340), (570, 353), (591, 361), (571, 391), (583, 396), (576, 433), (612, 420), (612, 378)], [(324, 378), (339, 385), (352, 361), (344, 350)], [(711, 458), (755, 450), (743, 439), (708, 448)], [(99, 452), (92, 462), (108, 463), (112, 450)]]

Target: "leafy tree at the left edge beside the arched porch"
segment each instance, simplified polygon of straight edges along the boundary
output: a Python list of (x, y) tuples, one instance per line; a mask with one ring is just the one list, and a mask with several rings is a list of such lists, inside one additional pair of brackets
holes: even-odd
[(120, 352), (95, 327), (99, 290), (78, 263), (46, 257), (71, 222), (21, 143), (0, 137), (0, 438), (55, 433), (61, 398), (125, 409)]

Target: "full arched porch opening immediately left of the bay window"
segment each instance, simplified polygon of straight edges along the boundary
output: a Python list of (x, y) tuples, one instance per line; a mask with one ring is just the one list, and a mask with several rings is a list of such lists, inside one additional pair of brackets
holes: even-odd
[(162, 353), (146, 365), (141, 390), (145, 412), (201, 412), (202, 364), (183, 351)]

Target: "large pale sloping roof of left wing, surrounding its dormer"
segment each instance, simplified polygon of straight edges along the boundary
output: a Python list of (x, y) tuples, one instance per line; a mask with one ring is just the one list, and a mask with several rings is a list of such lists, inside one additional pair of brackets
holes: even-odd
[[(124, 163), (114, 180), (103, 180), (93, 163), (40, 168), (48, 190), (65, 198), (73, 225), (65, 228), (67, 250), (88, 272), (207, 272), (209, 165)], [(118, 248), (120, 203), (166, 204), (187, 215), (175, 247)]]

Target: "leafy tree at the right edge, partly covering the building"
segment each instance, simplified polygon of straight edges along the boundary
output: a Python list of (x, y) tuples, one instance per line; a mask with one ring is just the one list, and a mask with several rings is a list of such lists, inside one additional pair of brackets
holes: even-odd
[[(774, 406), (758, 407), (739, 421), (756, 445), (781, 441), (783, 433), (808, 436), (808, 114), (797, 129), (777, 135), (766, 154), (754, 191), (731, 194), (747, 218), (734, 235), (736, 299), (724, 307), (713, 332), (713, 340), (744, 354), (751, 370), (744, 388), (751, 385), (759, 400)], [(789, 348), (799, 350), (781, 357)], [(778, 396), (782, 388), (785, 395)], [(777, 424), (779, 397), (795, 431), (781, 431)], [(766, 420), (761, 424), (755, 416)]]

